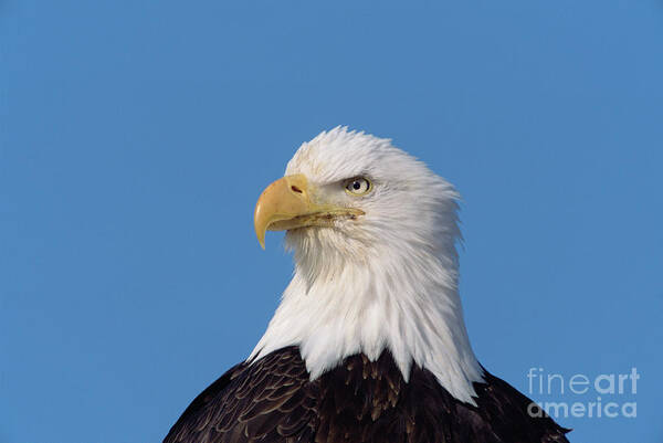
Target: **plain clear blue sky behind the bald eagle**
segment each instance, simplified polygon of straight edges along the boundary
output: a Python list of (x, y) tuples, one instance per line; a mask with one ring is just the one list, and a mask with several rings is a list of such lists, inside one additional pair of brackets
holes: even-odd
[(461, 191), (484, 366), (635, 367), (635, 419), (559, 421), (663, 440), (663, 2), (6, 0), (0, 66), (0, 442), (160, 441), (262, 335), (253, 205), (339, 124)]

